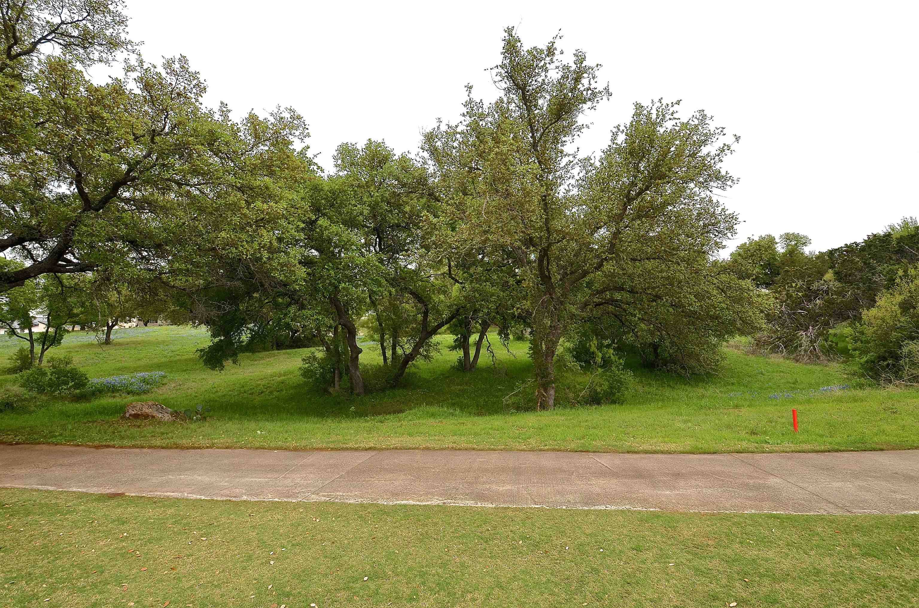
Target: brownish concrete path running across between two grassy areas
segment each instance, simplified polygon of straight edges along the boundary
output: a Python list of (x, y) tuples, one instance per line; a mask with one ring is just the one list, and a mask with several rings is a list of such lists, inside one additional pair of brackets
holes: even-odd
[(250, 501), (919, 512), (919, 450), (641, 455), (0, 445), (0, 486)]

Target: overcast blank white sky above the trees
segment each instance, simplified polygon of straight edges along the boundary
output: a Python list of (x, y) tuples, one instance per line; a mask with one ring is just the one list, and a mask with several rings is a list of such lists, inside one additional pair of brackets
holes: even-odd
[(582, 152), (604, 147), (636, 100), (683, 99), (742, 140), (725, 197), (739, 239), (809, 234), (857, 241), (919, 215), (919, 2), (289, 2), (129, 0), (149, 60), (187, 55), (207, 102), (236, 112), (296, 107), (330, 168), (341, 141), (417, 149), (438, 117), (456, 119), (502, 29), (528, 46), (559, 29), (562, 48), (604, 65), (612, 101)]

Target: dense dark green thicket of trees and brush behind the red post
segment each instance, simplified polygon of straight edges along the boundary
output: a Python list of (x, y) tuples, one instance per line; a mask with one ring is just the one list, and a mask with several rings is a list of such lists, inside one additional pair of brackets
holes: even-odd
[(810, 252), (806, 236), (751, 238), (729, 262), (773, 296), (754, 343), (801, 361), (847, 357), (872, 379), (919, 383), (919, 222), (905, 218), (863, 241)]

